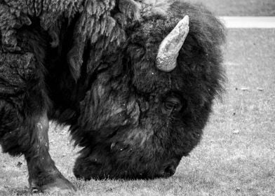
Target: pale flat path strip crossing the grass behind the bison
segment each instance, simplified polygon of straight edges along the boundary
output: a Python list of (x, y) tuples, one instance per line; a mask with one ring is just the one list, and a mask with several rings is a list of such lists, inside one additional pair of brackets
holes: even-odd
[(220, 16), (227, 28), (260, 28), (274, 29), (275, 17), (250, 17), (250, 16)]

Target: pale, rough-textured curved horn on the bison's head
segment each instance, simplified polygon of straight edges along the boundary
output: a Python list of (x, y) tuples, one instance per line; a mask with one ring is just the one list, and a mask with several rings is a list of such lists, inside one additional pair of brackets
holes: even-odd
[(161, 41), (158, 55), (156, 55), (156, 67), (161, 71), (172, 71), (177, 66), (177, 56), (182, 48), (185, 38), (189, 32), (189, 17), (177, 23), (170, 34)]

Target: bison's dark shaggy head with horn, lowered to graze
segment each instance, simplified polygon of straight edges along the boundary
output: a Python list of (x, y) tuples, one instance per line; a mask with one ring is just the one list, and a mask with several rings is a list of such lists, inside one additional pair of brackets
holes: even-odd
[(187, 3), (168, 13), (144, 14), (126, 29), (126, 45), (102, 58), (72, 127), (83, 146), (76, 177), (172, 176), (199, 143), (222, 90), (224, 28)]

